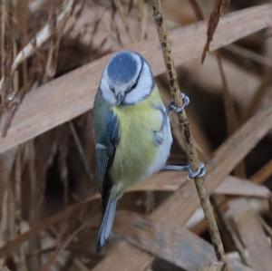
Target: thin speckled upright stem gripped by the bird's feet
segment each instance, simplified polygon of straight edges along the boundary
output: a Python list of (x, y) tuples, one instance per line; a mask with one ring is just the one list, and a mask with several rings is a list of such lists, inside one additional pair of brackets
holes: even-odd
[[(180, 99), (180, 86), (178, 83), (177, 73), (175, 70), (173, 58), (170, 51), (170, 43), (168, 40), (168, 33), (165, 26), (162, 10), (161, 10), (160, 0), (153, 1), (153, 12), (154, 12), (154, 19), (155, 19), (158, 35), (160, 38), (160, 46), (163, 53), (164, 62), (166, 65), (167, 76), (170, 82), (171, 96), (173, 97), (176, 106), (181, 106), (182, 101)], [(193, 140), (192, 134), (189, 129), (189, 122), (187, 120), (186, 112), (181, 111), (178, 114), (178, 118), (180, 122), (180, 131), (183, 134), (183, 139), (185, 143), (185, 151), (188, 156), (189, 165), (193, 170), (197, 170), (199, 168), (199, 157), (198, 157), (197, 150), (195, 148), (195, 142)], [(209, 234), (210, 234), (213, 246), (215, 247), (216, 255), (219, 261), (221, 260), (225, 261), (224, 247), (219, 235), (219, 228), (214, 218), (213, 209), (209, 201), (209, 194), (204, 186), (204, 179), (195, 178), (194, 182), (199, 193), (201, 206), (208, 220)]]

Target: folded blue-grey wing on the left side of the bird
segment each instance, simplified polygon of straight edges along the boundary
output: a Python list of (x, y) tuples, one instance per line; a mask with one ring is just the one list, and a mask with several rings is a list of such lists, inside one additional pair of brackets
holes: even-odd
[(109, 169), (119, 141), (119, 122), (111, 109), (111, 105), (103, 100), (100, 92), (97, 92), (93, 106), (93, 131), (98, 187), (102, 194), (104, 208), (112, 189)]

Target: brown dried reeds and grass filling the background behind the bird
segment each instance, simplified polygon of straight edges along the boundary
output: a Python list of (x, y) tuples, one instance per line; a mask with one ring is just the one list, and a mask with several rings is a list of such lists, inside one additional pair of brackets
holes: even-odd
[[(271, 14), (272, 7), (255, 1), (259, 6), (247, 10), (232, 1), (228, 10), (234, 14), (226, 24), (220, 16), (228, 1), (189, 2), (192, 6), (165, 1), (164, 8), (169, 27), (178, 27), (171, 32), (175, 62), (181, 65), (180, 85), (191, 98), (189, 121), (208, 165), (206, 184), (216, 198), (229, 264), (232, 270), (269, 270), (272, 97), (267, 63), (272, 60), (265, 31), (272, 25), (267, 11)], [(121, 47), (140, 51), (169, 99), (151, 6), (145, 0), (115, 3), (121, 9), (94, 0), (1, 1), (0, 123), (5, 138), (0, 140), (0, 270), (219, 269), (197, 211), (197, 193), (182, 173), (160, 173), (132, 188), (121, 199), (125, 211), (117, 214), (105, 253), (94, 253), (101, 205), (94, 179), (92, 111), (85, 111), (92, 108), (86, 101), (93, 99), (108, 58), (103, 56)], [(238, 9), (243, 10), (235, 14)], [(195, 21), (194, 13), (198, 20), (210, 15), (207, 41), (206, 23), (177, 25)], [(211, 56), (199, 66), (206, 42), (203, 55), (209, 47), (218, 49), (247, 34), (250, 38), (236, 44), (246, 61), (228, 51), (220, 53), (221, 73), (214, 73), (219, 68)], [(198, 63), (184, 64), (194, 58)], [(186, 160), (181, 146), (177, 136), (172, 162)], [(230, 176), (240, 162), (243, 175), (234, 171), (237, 177)], [(242, 245), (229, 242), (229, 235), (241, 238)], [(242, 265), (235, 253), (244, 256), (246, 250)]]

